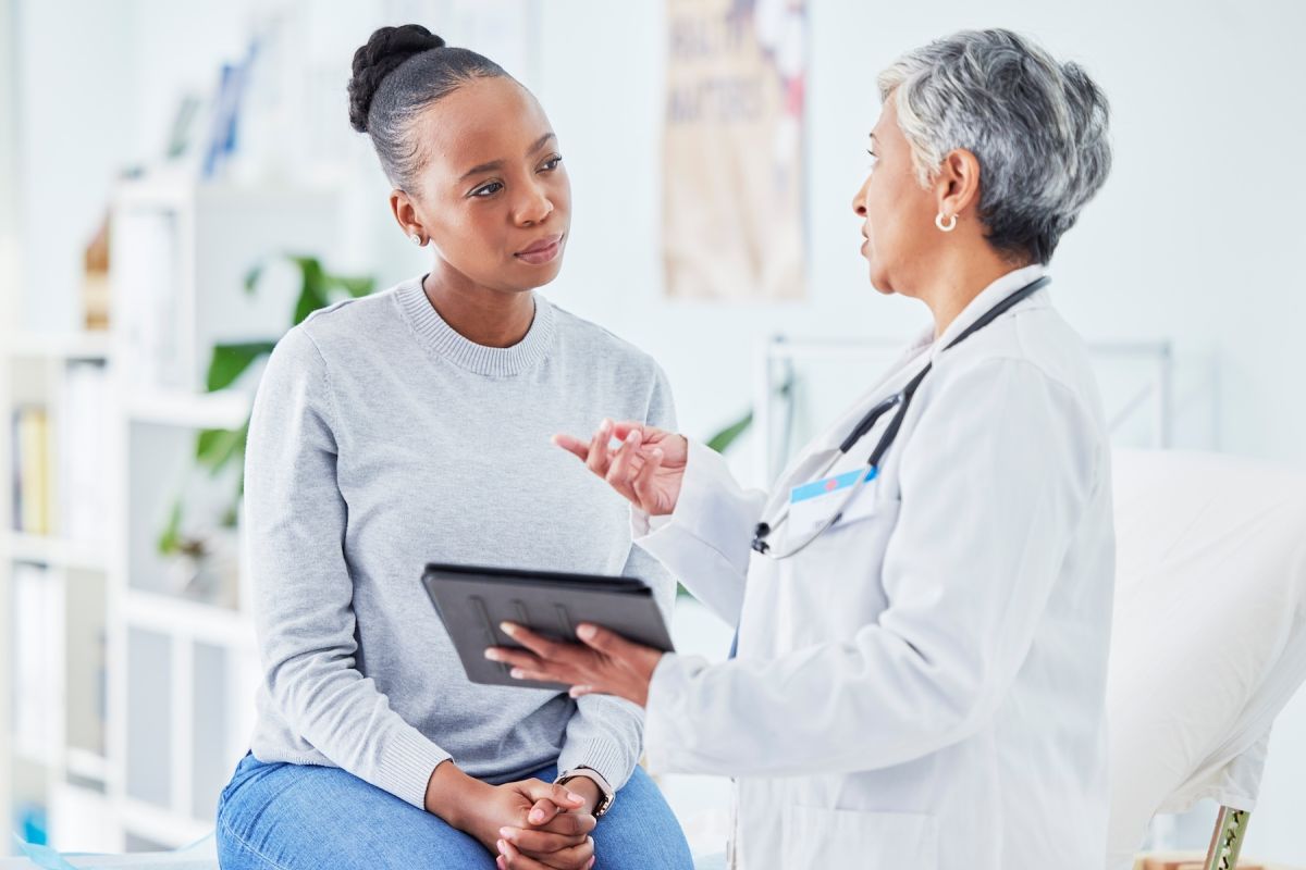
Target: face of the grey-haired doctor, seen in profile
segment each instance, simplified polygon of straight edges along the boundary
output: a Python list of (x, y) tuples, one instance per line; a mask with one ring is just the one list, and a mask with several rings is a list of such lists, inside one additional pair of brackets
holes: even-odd
[(870, 263), (871, 286), (882, 293), (905, 292), (929, 267), (934, 243), (934, 193), (919, 185), (912, 166), (912, 146), (897, 124), (893, 95), (884, 100), (870, 137), (871, 171), (853, 198), (862, 219), (862, 256)]

